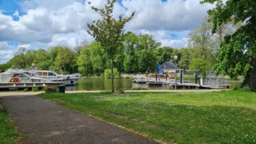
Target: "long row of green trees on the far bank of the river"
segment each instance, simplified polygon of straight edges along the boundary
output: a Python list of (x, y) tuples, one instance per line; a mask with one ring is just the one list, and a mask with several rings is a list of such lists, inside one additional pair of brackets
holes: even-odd
[[(193, 55), (193, 51), (193, 48), (161, 47), (160, 42), (156, 42), (152, 35), (129, 33), (124, 38), (122, 46), (118, 48), (114, 68), (117, 68), (119, 73), (128, 74), (155, 72), (157, 64), (165, 61), (174, 62), (174, 55), (178, 56), (177, 64), (182, 69), (187, 70), (195, 63), (201, 64), (199, 68), (204, 67), (202, 70), (210, 68), (211, 63), (198, 58), (198, 52), (197, 55)], [(191, 63), (192, 59), (194, 64)], [(0, 68), (2, 71), (8, 68), (30, 68), (32, 63), (38, 70), (56, 70), (64, 74), (80, 72), (85, 76), (103, 74), (111, 65), (109, 57), (98, 42), (89, 44), (84, 41), (81, 46), (73, 49), (66, 46), (28, 51), (26, 48), (19, 48), (14, 57), (8, 63), (1, 64)]]

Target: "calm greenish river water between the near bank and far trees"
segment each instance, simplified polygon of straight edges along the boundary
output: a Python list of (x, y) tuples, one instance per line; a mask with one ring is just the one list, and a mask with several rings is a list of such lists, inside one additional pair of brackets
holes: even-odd
[[(195, 81), (189, 81), (195, 83)], [(229, 89), (240, 87), (242, 81), (228, 81), (231, 86)], [(169, 89), (169, 85), (162, 85), (162, 87), (148, 87), (146, 84), (132, 83), (131, 79), (114, 79), (115, 89), (130, 89), (132, 87), (146, 87), (149, 89)], [(67, 91), (76, 90), (111, 90), (111, 79), (104, 78), (83, 78), (80, 79), (78, 85), (66, 87)]]

